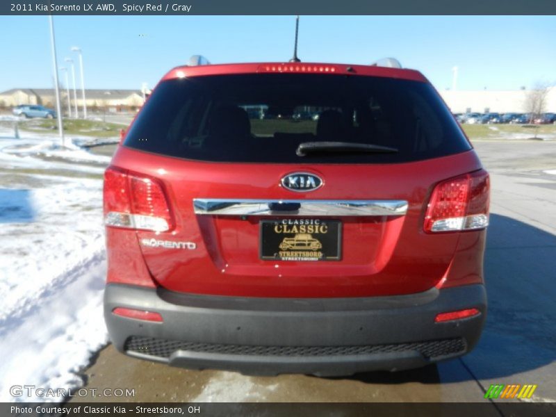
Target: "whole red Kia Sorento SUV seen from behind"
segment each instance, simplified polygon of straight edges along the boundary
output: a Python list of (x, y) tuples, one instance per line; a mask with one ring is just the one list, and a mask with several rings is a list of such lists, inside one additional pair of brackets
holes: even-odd
[(488, 215), (489, 175), (420, 72), (177, 67), (106, 170), (108, 331), (133, 357), (259, 375), (459, 357)]

